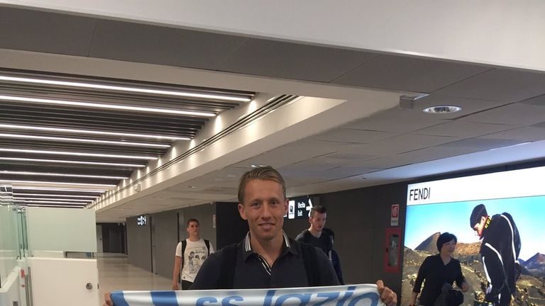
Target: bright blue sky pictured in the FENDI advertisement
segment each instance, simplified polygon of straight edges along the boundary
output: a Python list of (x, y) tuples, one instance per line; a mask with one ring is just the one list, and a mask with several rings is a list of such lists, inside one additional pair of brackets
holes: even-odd
[(458, 237), (458, 242), (478, 242), (469, 217), (480, 203), (486, 206), (488, 215), (502, 212), (512, 215), (522, 242), (520, 259), (527, 260), (537, 252), (545, 253), (545, 225), (541, 223), (545, 216), (545, 196), (408, 206), (404, 245), (414, 249), (435, 232), (451, 232)]

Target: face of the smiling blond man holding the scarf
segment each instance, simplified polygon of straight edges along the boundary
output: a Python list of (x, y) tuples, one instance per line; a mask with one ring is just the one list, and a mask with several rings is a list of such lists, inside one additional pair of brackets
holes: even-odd
[(279, 183), (253, 179), (246, 183), (244, 203), (238, 203), (238, 212), (248, 221), (251, 237), (265, 242), (282, 235), (287, 206)]

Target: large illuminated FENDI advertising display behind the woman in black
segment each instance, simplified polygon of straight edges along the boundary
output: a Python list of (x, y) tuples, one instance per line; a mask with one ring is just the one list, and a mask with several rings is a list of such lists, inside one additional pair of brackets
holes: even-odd
[(544, 178), (545, 167), (536, 167), (410, 184), (401, 305), (444, 232), (458, 239), (453, 258), (469, 285), (463, 305), (545, 305)]

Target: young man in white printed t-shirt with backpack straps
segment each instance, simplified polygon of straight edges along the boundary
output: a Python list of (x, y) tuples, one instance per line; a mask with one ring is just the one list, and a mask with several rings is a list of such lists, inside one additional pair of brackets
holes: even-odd
[(192, 285), (204, 260), (208, 258), (209, 254), (214, 253), (214, 246), (199, 235), (199, 220), (187, 220), (187, 233), (189, 238), (179, 242), (176, 246), (172, 290), (180, 290), (180, 267), (182, 271), (182, 290), (187, 290)]

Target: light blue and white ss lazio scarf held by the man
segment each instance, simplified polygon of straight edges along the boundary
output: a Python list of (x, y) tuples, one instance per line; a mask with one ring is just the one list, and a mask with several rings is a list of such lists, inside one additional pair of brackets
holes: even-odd
[(384, 305), (374, 284), (245, 290), (114, 291), (111, 300), (114, 306)]

